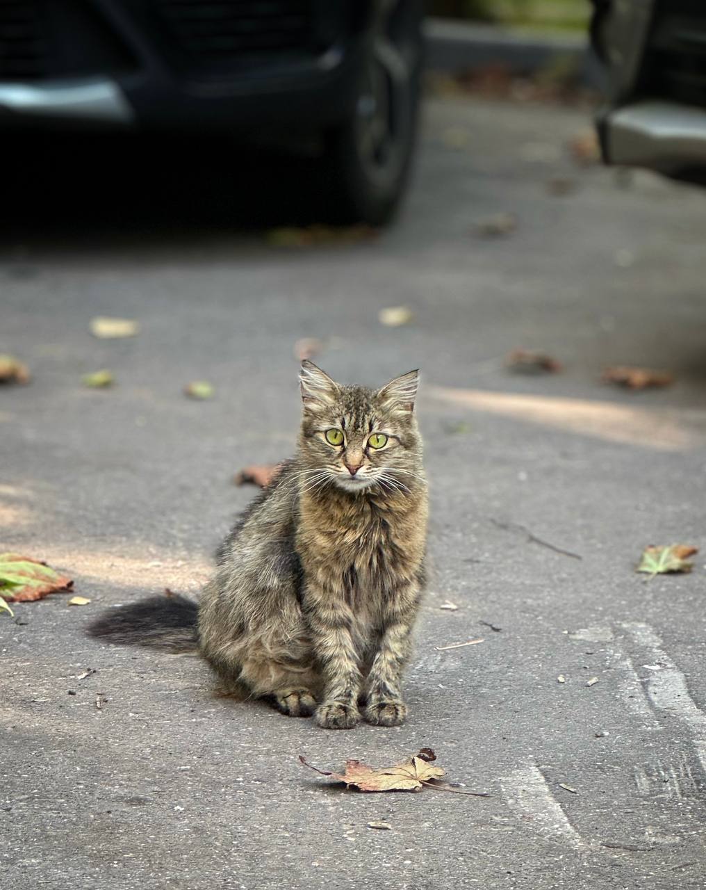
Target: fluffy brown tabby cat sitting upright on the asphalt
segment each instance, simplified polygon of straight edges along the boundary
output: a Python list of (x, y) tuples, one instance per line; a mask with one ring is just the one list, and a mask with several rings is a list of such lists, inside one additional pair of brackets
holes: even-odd
[(362, 717), (397, 726), (425, 585), (419, 373), (373, 391), (304, 360), (300, 383), (296, 456), (238, 519), (199, 603), (155, 597), (106, 612), (89, 633), (197, 649), (227, 689), (326, 729)]

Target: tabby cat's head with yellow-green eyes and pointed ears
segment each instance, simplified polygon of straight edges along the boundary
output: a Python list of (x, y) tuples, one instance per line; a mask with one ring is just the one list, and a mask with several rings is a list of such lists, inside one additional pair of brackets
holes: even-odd
[(405, 493), (424, 484), (414, 414), (418, 371), (370, 390), (334, 383), (305, 360), (300, 383), (303, 490), (334, 484), (355, 494), (377, 485), (382, 492)]

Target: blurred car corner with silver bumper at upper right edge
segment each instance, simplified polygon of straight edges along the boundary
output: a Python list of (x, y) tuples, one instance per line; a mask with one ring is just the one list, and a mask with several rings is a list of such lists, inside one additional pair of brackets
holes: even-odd
[(706, 3), (593, 0), (606, 66), (598, 134), (608, 164), (706, 183)]

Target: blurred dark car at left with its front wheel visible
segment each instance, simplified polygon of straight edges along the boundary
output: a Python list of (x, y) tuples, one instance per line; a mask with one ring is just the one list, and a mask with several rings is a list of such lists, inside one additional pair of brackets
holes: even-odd
[(307, 150), (341, 221), (393, 214), (420, 69), (419, 0), (0, 0), (0, 128)]

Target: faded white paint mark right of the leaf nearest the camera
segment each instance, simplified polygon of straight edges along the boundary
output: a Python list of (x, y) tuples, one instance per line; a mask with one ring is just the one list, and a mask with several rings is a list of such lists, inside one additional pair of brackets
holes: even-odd
[(567, 844), (574, 850), (590, 846), (574, 829), (534, 762), (527, 761), (513, 770), (501, 780), (501, 788), (510, 809), (531, 820), (532, 827), (542, 837)]

